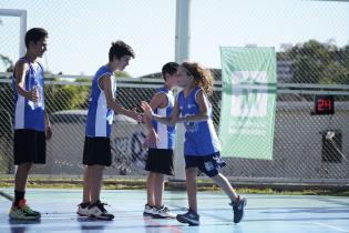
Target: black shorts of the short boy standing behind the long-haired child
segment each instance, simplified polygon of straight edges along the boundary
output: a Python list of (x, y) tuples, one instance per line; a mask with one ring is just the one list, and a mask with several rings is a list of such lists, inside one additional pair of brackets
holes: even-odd
[(162, 174), (173, 174), (173, 150), (148, 149), (145, 170)]

